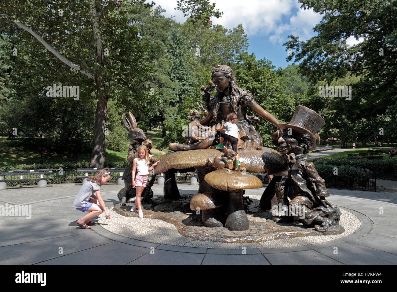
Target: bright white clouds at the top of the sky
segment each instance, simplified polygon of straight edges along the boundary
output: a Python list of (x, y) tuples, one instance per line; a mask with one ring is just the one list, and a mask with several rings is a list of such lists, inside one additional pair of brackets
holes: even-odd
[[(174, 10), (177, 7), (176, 0), (154, 1), (167, 10), (166, 16), (175, 15), (176, 21), (185, 21), (186, 17)], [(231, 29), (242, 23), (248, 37), (268, 36), (273, 43), (283, 43), (290, 34), (308, 39), (312, 34), (311, 29), (322, 18), (311, 9), (301, 9), (297, 0), (210, 1), (212, 2), (216, 2), (215, 7), (224, 13), (219, 19), (212, 17), (212, 24), (221, 24)]]

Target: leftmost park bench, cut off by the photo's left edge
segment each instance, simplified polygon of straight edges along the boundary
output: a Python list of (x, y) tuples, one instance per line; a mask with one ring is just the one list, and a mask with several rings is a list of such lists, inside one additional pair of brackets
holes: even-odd
[[(2, 170), (0, 171), (0, 190), (7, 189), (7, 182), (25, 180), (38, 180), (37, 186), (39, 188), (45, 188), (47, 186), (47, 180), (53, 180), (54, 178), (44, 177), (44, 174), (52, 174), (52, 169)], [(40, 177), (37, 177), (38, 175)], [(19, 178), (15, 178), (15, 176), (19, 176)]]

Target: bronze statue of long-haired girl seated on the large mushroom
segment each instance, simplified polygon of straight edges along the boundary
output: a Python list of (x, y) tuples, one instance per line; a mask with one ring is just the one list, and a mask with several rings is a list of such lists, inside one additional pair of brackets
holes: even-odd
[[(216, 88), (216, 94), (212, 99), (210, 92)], [(259, 104), (254, 101), (249, 91), (243, 90), (236, 84), (233, 70), (226, 65), (218, 65), (212, 69), (212, 82), (210, 86), (203, 89), (203, 101), (208, 109), (208, 115), (199, 121), (203, 126), (222, 126), (222, 120), (230, 113), (237, 115), (238, 128), (241, 140), (245, 143), (244, 147), (261, 149), (262, 137), (252, 126), (251, 121), (247, 120), (247, 108), (264, 118), (266, 121), (278, 126), (278, 120), (269, 112), (266, 112)], [(169, 147), (173, 151), (185, 151), (194, 149), (206, 149), (216, 145), (217, 141), (210, 136), (202, 141), (193, 144), (170, 143)]]

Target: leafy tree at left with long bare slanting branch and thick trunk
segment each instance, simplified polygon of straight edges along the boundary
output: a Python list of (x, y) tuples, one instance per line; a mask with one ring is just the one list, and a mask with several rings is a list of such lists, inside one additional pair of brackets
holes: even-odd
[[(29, 50), (44, 46), (51, 53), (46, 58), (62, 68), (61, 72), (47, 68), (52, 75), (60, 77), (62, 73), (69, 72), (67, 68), (71, 68), (93, 85), (97, 101), (91, 167), (102, 167), (105, 161), (107, 102), (110, 97), (121, 102), (145, 97), (144, 92), (134, 91), (143, 83), (143, 77), (150, 73), (137, 28), (130, 25), (126, 17), (135, 6), (150, 5), (144, 4), (143, 0), (125, 1), (123, 4), (91, 0), (90, 5), (86, 1), (75, 0), (65, 6), (62, 2), (39, 0), (35, 3), (20, 1), (12, 6), (2, 1), (0, 8), (6, 24), (23, 29), (24, 40), (31, 36), (37, 39), (38, 42), (32, 42)], [(26, 48), (20, 49), (24, 51), (25, 58), (34, 58)]]

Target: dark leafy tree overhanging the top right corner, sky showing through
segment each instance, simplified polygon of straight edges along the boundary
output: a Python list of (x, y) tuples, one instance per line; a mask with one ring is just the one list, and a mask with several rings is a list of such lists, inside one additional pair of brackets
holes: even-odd
[[(360, 76), (353, 88), (360, 118), (374, 118), (397, 110), (397, 2), (373, 0), (300, 0), (304, 9), (323, 14), (308, 41), (289, 36), (284, 45), (293, 49), (287, 60), (301, 62), (299, 69), (316, 83)], [(357, 44), (349, 45), (348, 39)], [(342, 84), (344, 86), (350, 84)], [(364, 99), (365, 102), (360, 102)], [(349, 101), (339, 108), (350, 108)]]

